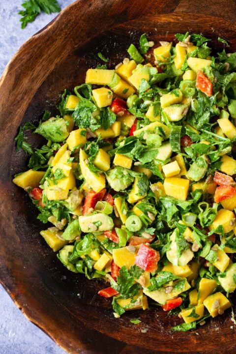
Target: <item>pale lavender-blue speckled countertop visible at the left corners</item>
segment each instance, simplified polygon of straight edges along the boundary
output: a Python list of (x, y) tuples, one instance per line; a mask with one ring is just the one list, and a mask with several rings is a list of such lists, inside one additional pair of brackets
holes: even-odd
[[(57, 14), (41, 14), (26, 29), (20, 28), (23, 0), (0, 0), (0, 75), (9, 59), (34, 33)], [(58, 0), (61, 8), (73, 0)], [(31, 324), (0, 286), (0, 354), (63, 354), (45, 333)]]

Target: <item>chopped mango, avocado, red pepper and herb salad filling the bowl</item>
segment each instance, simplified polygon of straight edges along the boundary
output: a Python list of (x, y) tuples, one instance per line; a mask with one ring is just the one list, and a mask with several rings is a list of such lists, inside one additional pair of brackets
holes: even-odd
[(233, 306), (236, 53), (212, 55), (209, 41), (187, 32), (155, 46), (142, 34), (115, 68), (99, 53), (59, 115), (15, 138), (30, 158), (13, 182), (41, 236), (69, 271), (103, 280), (116, 318), (149, 303), (185, 331)]

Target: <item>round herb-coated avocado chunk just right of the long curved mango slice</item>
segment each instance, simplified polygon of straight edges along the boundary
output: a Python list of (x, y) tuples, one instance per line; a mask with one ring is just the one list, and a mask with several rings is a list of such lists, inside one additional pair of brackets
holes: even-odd
[(129, 170), (120, 166), (109, 170), (106, 177), (110, 187), (116, 192), (125, 190), (134, 181), (134, 177), (130, 175)]

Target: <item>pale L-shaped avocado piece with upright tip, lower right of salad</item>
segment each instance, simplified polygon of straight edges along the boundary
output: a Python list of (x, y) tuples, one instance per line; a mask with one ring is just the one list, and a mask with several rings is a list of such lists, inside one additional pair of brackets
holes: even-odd
[(191, 251), (190, 248), (185, 249), (182, 251), (181, 256), (177, 256), (177, 243), (176, 243), (176, 232), (171, 235), (171, 247), (166, 252), (167, 259), (174, 265), (174, 266), (186, 266), (188, 262), (191, 261), (193, 258), (194, 253)]

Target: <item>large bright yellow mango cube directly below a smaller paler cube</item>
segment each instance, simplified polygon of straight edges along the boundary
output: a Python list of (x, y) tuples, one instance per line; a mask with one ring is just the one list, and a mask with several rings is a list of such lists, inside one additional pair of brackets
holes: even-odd
[(164, 189), (166, 195), (186, 200), (188, 196), (189, 180), (178, 177), (167, 177), (164, 180)]

